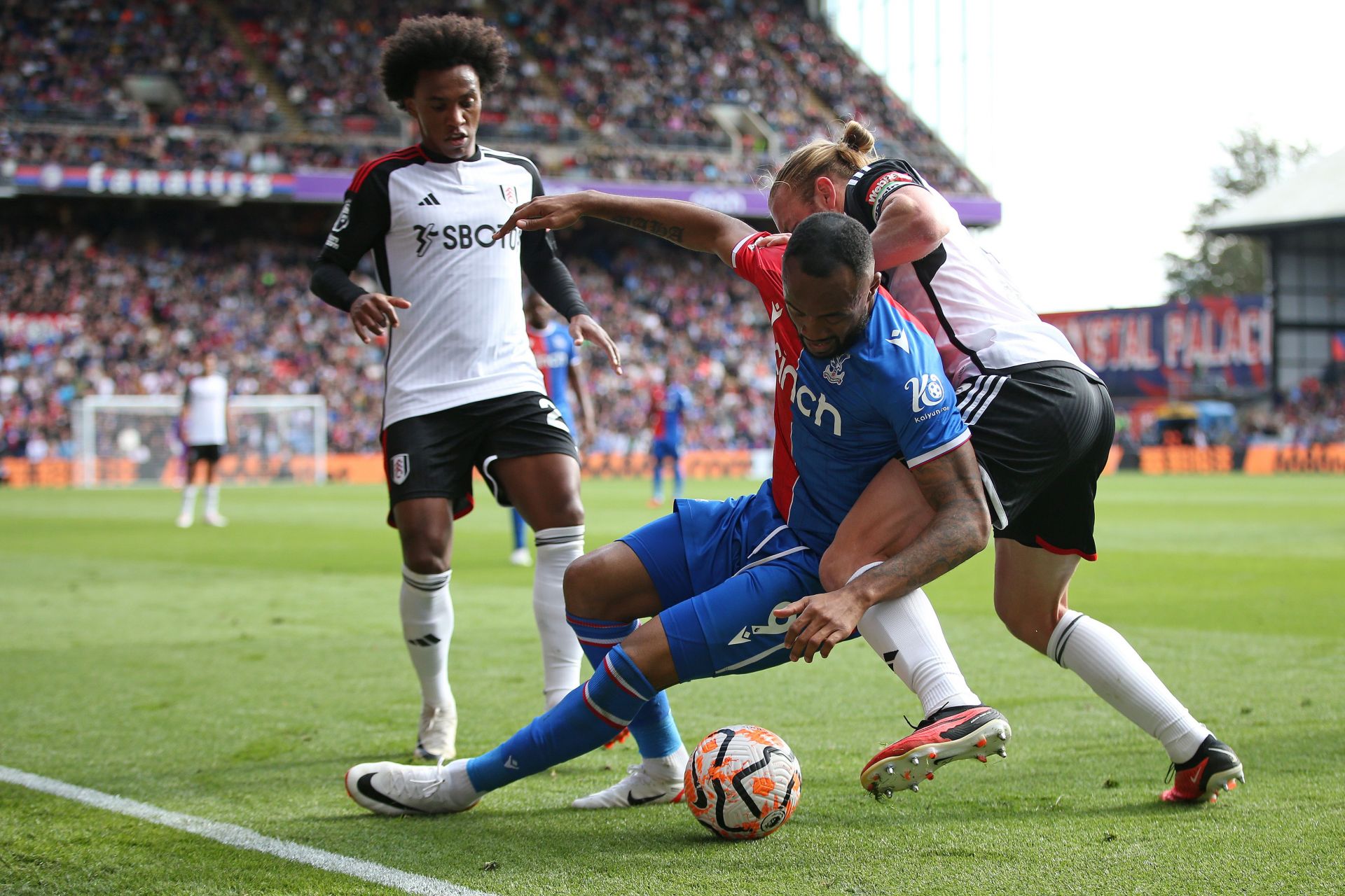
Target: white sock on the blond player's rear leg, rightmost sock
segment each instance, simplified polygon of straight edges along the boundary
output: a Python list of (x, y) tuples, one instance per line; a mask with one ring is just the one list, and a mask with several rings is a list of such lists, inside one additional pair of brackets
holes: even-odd
[(1084, 680), (1120, 715), (1162, 742), (1173, 762), (1196, 755), (1209, 728), (1196, 721), (1135, 649), (1111, 626), (1065, 610), (1046, 656)]

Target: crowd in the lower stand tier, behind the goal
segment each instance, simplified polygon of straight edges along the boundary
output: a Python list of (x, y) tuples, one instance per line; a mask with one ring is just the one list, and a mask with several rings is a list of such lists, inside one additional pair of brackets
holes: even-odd
[[(114, 232), (46, 224), (0, 238), (0, 290), (11, 297), (0, 314), (4, 454), (71, 455), (77, 398), (179, 395), (207, 351), (235, 394), (320, 392), (331, 450), (378, 450), (383, 352), (308, 292), (320, 230), (282, 238), (296, 219), (253, 220), (243, 230), (257, 235), (222, 251), (230, 224), (200, 210)], [(690, 446), (769, 445), (773, 367), (751, 287), (713, 258), (611, 231), (577, 234), (564, 254), (627, 359), (620, 379), (589, 357), (593, 449), (643, 447), (650, 386), (670, 357), (683, 360), (699, 408)]]

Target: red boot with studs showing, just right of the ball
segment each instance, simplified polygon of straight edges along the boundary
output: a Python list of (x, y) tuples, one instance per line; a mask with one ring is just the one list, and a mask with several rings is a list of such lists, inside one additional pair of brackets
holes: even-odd
[(935, 768), (944, 763), (1006, 756), (1005, 744), (1011, 736), (1009, 721), (998, 709), (948, 707), (865, 763), (859, 783), (880, 799), (898, 790), (919, 791), (920, 783), (933, 780)]

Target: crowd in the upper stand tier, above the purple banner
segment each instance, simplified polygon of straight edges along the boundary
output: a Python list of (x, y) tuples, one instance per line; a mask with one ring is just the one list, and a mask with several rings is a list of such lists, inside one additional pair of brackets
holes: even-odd
[[(769, 121), (784, 149), (858, 114), (933, 183), (982, 191), (796, 0), (660, 0), (654, 15), (619, 0), (526, 0), (502, 4), (498, 16), (476, 3), (130, 0), (109, 9), (67, 0), (55, 11), (35, 0), (0, 3), (8, 23), (0, 121), (24, 125), (0, 150), (24, 163), (269, 173), (358, 167), (404, 145), (405, 117), (375, 74), (379, 40), (401, 16), (457, 8), (487, 13), (514, 58), (483, 109), (483, 141), (538, 157), (549, 175), (751, 183), (771, 160), (751, 134), (738, 146), (745, 152), (729, 153), (730, 136), (710, 114), (728, 103)], [(54, 122), (122, 130), (40, 130)], [(538, 152), (543, 146), (566, 152)]]

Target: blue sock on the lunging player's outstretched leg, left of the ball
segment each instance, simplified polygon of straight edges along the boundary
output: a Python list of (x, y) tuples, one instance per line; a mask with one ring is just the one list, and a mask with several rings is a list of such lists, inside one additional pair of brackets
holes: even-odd
[(565, 695), (545, 716), (527, 723), (495, 750), (467, 760), (467, 776), (480, 793), (582, 756), (612, 739), (644, 708), (654, 688), (620, 645), (593, 677)]

